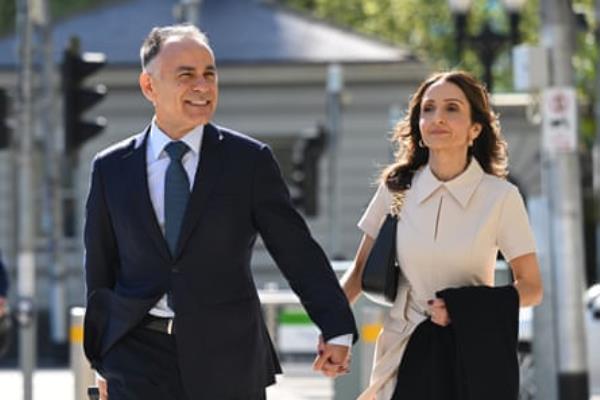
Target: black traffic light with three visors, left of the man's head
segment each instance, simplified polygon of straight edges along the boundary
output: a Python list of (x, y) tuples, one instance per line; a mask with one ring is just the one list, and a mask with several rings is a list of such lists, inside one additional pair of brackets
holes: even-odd
[(98, 117), (94, 122), (83, 116), (87, 110), (106, 96), (106, 86), (84, 87), (84, 80), (106, 64), (103, 53), (79, 52), (77, 39), (65, 51), (62, 64), (62, 89), (64, 100), (65, 150), (73, 154), (81, 145), (96, 136), (106, 126)]

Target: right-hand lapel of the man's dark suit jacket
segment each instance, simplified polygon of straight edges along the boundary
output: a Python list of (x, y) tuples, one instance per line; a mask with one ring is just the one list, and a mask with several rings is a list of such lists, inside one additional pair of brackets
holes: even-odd
[(189, 240), (194, 228), (198, 224), (205, 209), (204, 205), (223, 171), (222, 134), (214, 125), (206, 124), (203, 135), (200, 162), (198, 163), (192, 193), (183, 219), (181, 233), (179, 234), (177, 255), (181, 253), (185, 243)]

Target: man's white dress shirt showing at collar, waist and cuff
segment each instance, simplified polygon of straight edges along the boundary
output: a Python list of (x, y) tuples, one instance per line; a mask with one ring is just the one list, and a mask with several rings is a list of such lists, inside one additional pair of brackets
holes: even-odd
[[(204, 134), (204, 125), (199, 125), (186, 133), (181, 139), (182, 142), (188, 145), (190, 151), (185, 153), (181, 162), (187, 173), (190, 182), (190, 192), (196, 177), (198, 162), (200, 161), (200, 148), (202, 145), (202, 137)], [(150, 127), (150, 136), (148, 137), (148, 146), (146, 147), (146, 172), (148, 174), (148, 190), (150, 192), (150, 200), (154, 208), (156, 220), (161, 231), (165, 232), (165, 173), (169, 166), (170, 159), (165, 152), (167, 144), (172, 142), (156, 125), (156, 120), (152, 119)], [(143, 138), (136, 143), (136, 147), (143, 143)], [(156, 305), (149, 311), (149, 314), (156, 317), (173, 318), (175, 313), (167, 305), (167, 295), (165, 294)], [(328, 341), (330, 344), (339, 344), (350, 346), (352, 344), (352, 335), (336, 336)]]

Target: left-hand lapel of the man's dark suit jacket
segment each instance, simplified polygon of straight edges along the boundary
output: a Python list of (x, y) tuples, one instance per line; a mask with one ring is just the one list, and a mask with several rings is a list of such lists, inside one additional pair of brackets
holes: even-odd
[(157, 247), (160, 255), (169, 260), (171, 255), (167, 247), (167, 242), (158, 225), (152, 201), (150, 200), (150, 190), (148, 188), (148, 172), (146, 166), (146, 146), (150, 136), (150, 127), (144, 133), (144, 139), (141, 146), (134, 148), (131, 152), (123, 156), (123, 171), (128, 172), (126, 183), (131, 195), (129, 201), (132, 203), (131, 209), (137, 213), (136, 221), (140, 224), (140, 229), (147, 232), (152, 242)]

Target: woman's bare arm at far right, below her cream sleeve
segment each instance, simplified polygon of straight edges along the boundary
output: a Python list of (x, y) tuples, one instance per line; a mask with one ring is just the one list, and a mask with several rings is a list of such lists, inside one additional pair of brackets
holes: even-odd
[(540, 266), (535, 253), (510, 260), (514, 285), (519, 292), (521, 307), (535, 306), (542, 302), (543, 285)]

